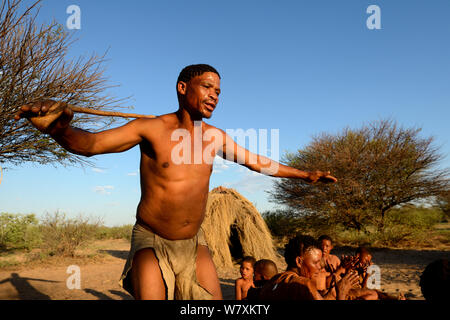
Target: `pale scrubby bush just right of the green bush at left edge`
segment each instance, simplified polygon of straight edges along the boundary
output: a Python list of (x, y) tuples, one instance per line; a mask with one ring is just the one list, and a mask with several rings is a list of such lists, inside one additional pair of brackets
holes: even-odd
[(95, 239), (100, 221), (67, 219), (65, 214), (46, 214), (41, 223), (42, 248), (48, 255), (75, 256), (75, 251)]

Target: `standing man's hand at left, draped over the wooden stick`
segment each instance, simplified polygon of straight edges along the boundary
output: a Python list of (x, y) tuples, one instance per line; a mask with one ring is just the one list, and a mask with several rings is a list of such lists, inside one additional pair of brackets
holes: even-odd
[(21, 118), (30, 120), (39, 131), (52, 134), (69, 126), (73, 111), (66, 103), (43, 100), (21, 106), (14, 119)]

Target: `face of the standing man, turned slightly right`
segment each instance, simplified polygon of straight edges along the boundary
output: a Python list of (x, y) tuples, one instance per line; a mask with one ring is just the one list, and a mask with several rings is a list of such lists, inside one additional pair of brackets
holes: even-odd
[(188, 82), (177, 85), (182, 106), (195, 117), (211, 118), (219, 103), (220, 78), (214, 72), (205, 72)]

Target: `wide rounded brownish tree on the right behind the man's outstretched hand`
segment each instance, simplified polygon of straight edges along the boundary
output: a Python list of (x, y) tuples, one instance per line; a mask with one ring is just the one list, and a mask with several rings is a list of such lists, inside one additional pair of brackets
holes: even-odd
[(442, 155), (432, 137), (420, 128), (401, 128), (381, 120), (336, 135), (321, 134), (284, 162), (301, 170), (330, 170), (338, 182), (309, 185), (281, 179), (272, 200), (288, 205), (297, 215), (328, 224), (364, 230), (383, 229), (389, 209), (438, 196), (449, 186), (448, 169), (439, 169)]

